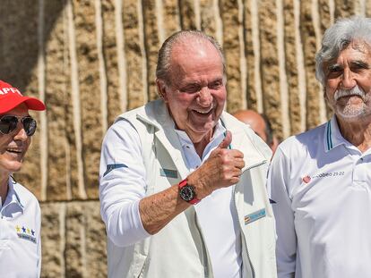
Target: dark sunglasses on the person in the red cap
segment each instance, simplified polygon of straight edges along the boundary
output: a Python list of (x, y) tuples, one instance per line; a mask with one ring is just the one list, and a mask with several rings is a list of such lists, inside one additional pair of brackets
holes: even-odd
[(4, 115), (0, 117), (0, 133), (9, 134), (17, 128), (18, 121), (22, 122), (23, 129), (27, 136), (32, 136), (36, 131), (36, 121), (30, 116), (18, 117), (11, 115)]

